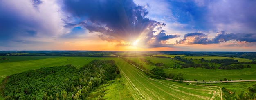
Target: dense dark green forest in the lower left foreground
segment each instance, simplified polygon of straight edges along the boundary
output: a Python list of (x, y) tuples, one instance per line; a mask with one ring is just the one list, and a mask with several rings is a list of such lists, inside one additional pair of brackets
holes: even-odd
[(7, 76), (0, 94), (5, 100), (85, 100), (119, 73), (114, 60), (92, 60), (79, 69), (71, 64), (40, 68)]

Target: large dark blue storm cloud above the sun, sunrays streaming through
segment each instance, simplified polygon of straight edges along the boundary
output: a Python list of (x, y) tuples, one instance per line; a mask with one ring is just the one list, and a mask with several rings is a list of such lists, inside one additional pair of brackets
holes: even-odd
[[(70, 13), (76, 19), (86, 19), (79, 20), (76, 24), (85, 27), (91, 33), (103, 33), (110, 38), (107, 39), (108, 37), (105, 36), (102, 39), (110, 41), (115, 39), (133, 42), (143, 34), (144, 39), (141, 40), (148, 42), (155, 37), (154, 32), (161, 31), (166, 25), (146, 18), (148, 11), (132, 0), (64, 0), (63, 11)], [(176, 36), (161, 33), (156, 37), (159, 40), (168, 40)]]

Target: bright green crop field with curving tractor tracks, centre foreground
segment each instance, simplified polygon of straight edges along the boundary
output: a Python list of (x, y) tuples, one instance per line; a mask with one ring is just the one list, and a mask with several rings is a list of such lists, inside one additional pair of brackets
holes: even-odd
[(135, 100), (220, 100), (220, 88), (180, 84), (169, 80), (156, 80), (146, 76), (134, 66), (117, 60), (122, 80)]

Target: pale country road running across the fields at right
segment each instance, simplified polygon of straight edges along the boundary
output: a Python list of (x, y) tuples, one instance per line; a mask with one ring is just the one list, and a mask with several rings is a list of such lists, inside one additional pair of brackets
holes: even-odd
[[(170, 78), (166, 78), (166, 80), (173, 80)], [(175, 80), (178, 81), (178, 80)], [(222, 83), (222, 82), (249, 82), (249, 81), (256, 81), (256, 80), (233, 80), (233, 81), (216, 81), (216, 82), (209, 82), (209, 81), (186, 81), (183, 80), (183, 82), (193, 82), (193, 83)]]

